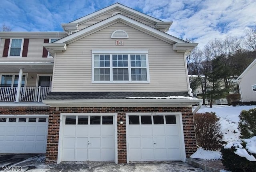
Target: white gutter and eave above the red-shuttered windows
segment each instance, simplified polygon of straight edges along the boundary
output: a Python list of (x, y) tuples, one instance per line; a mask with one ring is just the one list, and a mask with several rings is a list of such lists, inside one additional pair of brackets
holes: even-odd
[(52, 32), (0, 32), (1, 38), (62, 38), (67, 36), (65, 32), (52, 31)]

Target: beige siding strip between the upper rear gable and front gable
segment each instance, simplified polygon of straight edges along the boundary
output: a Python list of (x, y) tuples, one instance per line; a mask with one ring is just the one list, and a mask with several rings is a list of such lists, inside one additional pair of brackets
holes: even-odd
[(112, 14), (115, 13), (115, 12), (120, 12), (120, 13), (121, 13), (122, 15), (124, 15), (124, 16), (127, 16), (127, 17), (129, 17), (129, 18), (132, 18), (132, 19), (134, 19), (134, 20), (137, 20), (138, 22), (142, 22), (142, 23), (144, 23), (144, 24), (146, 24), (146, 25), (149, 25), (149, 26), (155, 28), (155, 25), (154, 25), (153, 23), (147, 22), (146, 20), (143, 20), (143, 19), (138, 18), (138, 17), (136, 17), (136, 16), (132, 16), (132, 15), (126, 13), (126, 12), (123, 12), (123, 11), (121, 11), (121, 10), (117, 10), (117, 9), (116, 9), (116, 10), (112, 10), (111, 12), (108, 12), (108, 13), (106, 13), (106, 14), (103, 14), (103, 15), (101, 15), (101, 16), (98, 16), (97, 18), (90, 19), (90, 20), (86, 21), (85, 23), (82, 23), (82, 24), (78, 25), (78, 30), (84, 29), (85, 27), (88, 27), (88, 26), (93, 25), (93, 24), (95, 24), (95, 23), (98, 23), (98, 22), (100, 22), (100, 21), (102, 21), (102, 20), (105, 20), (105, 19), (107, 19), (107, 18), (110, 18), (110, 17), (112, 16)]

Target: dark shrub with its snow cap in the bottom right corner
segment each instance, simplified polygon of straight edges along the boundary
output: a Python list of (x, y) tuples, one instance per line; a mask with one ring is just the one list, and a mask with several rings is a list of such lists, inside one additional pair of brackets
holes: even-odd
[(222, 164), (232, 172), (256, 172), (256, 136), (221, 149)]

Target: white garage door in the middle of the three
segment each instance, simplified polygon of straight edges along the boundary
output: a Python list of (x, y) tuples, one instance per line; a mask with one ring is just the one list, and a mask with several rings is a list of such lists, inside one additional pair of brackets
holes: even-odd
[(113, 115), (66, 115), (62, 161), (113, 161)]

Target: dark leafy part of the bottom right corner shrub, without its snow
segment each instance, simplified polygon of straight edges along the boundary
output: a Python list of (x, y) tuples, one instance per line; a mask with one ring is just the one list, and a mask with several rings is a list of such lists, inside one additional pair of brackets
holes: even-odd
[[(242, 145), (245, 147), (245, 144)], [(235, 146), (232, 146), (230, 149), (224, 149), (224, 147), (222, 147), (222, 164), (232, 172), (256, 172), (256, 162), (249, 161), (245, 157), (235, 154), (235, 151)], [(248, 152), (248, 154), (250, 153)], [(252, 155), (256, 157), (256, 154)]]

